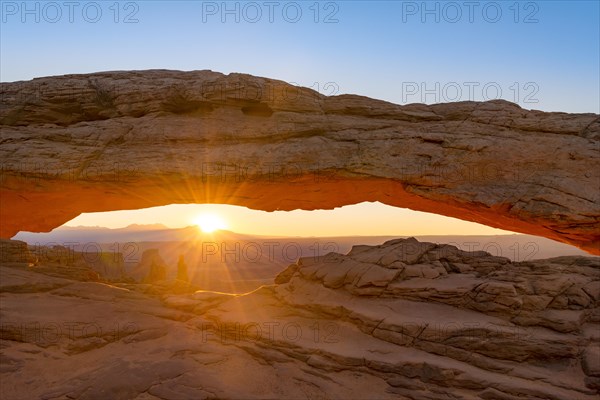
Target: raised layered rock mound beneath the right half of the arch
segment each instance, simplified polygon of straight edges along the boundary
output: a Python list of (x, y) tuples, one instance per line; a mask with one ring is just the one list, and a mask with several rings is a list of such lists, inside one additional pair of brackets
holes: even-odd
[(592, 317), (584, 310), (598, 306), (599, 267), (598, 258), (576, 256), (512, 263), (485, 251), (410, 238), (354, 246), (347, 255), (301, 258), (275, 282), (301, 279), (357, 296), (450, 304), (570, 332)]

